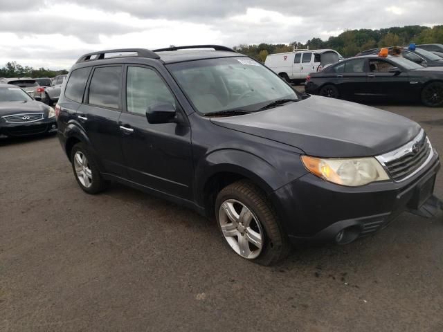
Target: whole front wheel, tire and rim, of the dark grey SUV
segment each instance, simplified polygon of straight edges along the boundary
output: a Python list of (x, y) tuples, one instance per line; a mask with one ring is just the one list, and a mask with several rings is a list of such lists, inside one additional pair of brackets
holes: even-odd
[(215, 216), (225, 243), (244, 259), (269, 266), (291, 250), (271, 202), (249, 181), (237, 181), (219, 192)]

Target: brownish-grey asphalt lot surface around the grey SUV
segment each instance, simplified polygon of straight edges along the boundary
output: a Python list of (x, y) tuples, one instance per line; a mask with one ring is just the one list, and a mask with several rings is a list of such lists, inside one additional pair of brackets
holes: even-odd
[[(443, 155), (442, 109), (377, 107)], [(0, 331), (443, 331), (442, 214), (264, 268), (195, 212), (84, 194), (55, 137), (0, 141), (0, 169)]]

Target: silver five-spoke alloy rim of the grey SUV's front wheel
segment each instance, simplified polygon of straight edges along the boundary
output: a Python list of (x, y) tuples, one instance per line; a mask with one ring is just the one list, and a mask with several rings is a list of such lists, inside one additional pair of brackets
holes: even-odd
[(230, 248), (246, 259), (255, 259), (262, 252), (264, 232), (260, 221), (246, 205), (228, 199), (220, 205), (219, 223)]

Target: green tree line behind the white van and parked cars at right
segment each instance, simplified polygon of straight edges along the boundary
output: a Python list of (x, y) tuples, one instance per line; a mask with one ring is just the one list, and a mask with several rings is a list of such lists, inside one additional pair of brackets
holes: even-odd
[(352, 57), (362, 50), (383, 46), (402, 46), (411, 42), (415, 44), (443, 44), (443, 26), (404, 26), (392, 27), (379, 30), (359, 29), (345, 30), (336, 37), (329, 37), (326, 41), (320, 38), (309, 39), (305, 44), (292, 42), (286, 44), (242, 44), (235, 46), (235, 50), (264, 62), (266, 56), (273, 53), (291, 52), (293, 47), (308, 48), (311, 50), (320, 48), (332, 48), (343, 57)]

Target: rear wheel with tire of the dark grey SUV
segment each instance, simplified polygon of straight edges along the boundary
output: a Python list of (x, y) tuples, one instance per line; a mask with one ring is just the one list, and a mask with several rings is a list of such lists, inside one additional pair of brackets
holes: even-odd
[[(82, 159), (82, 162), (78, 159), (79, 157)], [(98, 171), (96, 161), (89, 153), (87, 147), (81, 142), (74, 145), (71, 150), (71, 165), (75, 180), (84, 192), (98, 194), (98, 192), (105, 189), (105, 180)], [(80, 172), (84, 175), (80, 176)]]

